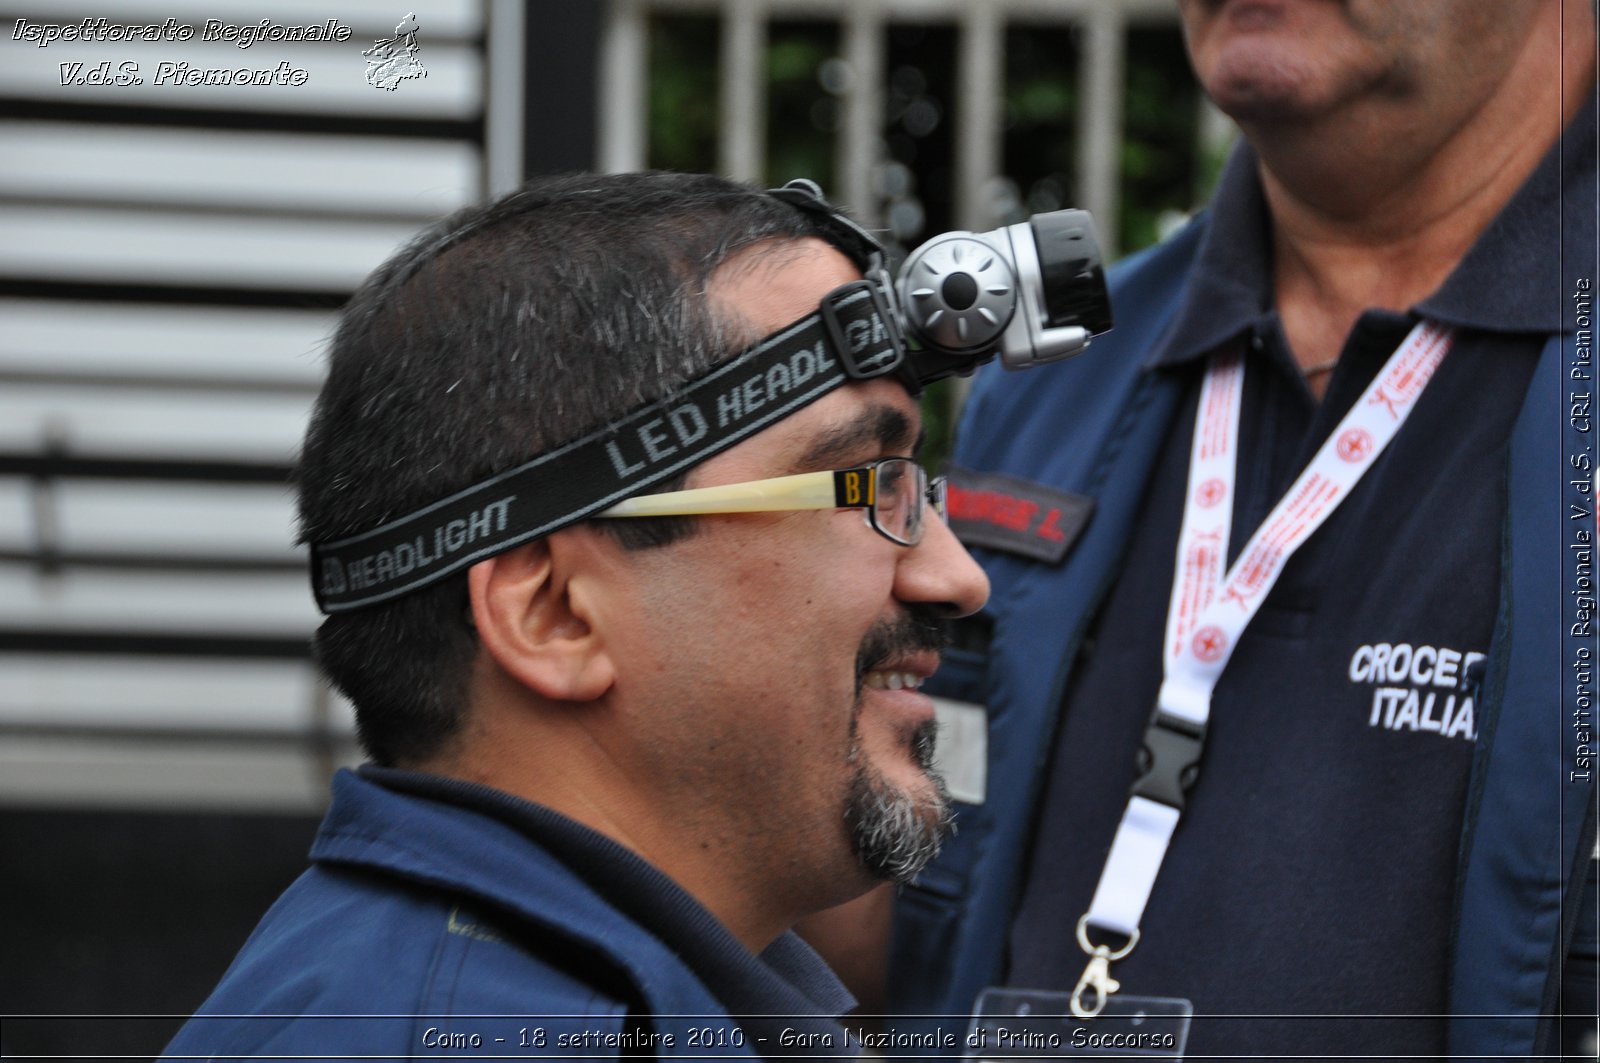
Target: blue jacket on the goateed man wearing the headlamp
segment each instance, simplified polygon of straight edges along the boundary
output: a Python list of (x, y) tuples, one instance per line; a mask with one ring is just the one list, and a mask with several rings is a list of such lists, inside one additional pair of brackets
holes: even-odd
[(350, 772), (333, 789), (312, 869), (168, 1057), (766, 1053), (683, 956), (512, 823)]

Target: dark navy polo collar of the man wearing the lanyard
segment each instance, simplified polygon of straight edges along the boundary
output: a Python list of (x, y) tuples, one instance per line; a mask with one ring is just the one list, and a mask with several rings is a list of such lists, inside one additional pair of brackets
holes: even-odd
[[(1501, 333), (1576, 328), (1573, 301), (1550, 293), (1594, 272), (1595, 120), (1590, 94), (1445, 283), (1416, 304), (1416, 314)], [(1147, 367), (1194, 362), (1275, 325), (1272, 223), (1258, 157), (1246, 141), (1229, 157), (1208, 213), (1187, 291)]]

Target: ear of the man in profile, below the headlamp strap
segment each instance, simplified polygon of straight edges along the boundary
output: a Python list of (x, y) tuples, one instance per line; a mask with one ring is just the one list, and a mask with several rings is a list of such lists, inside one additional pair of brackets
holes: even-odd
[(582, 594), (574, 551), (560, 535), (480, 560), (467, 570), (472, 621), (490, 658), (550, 701), (594, 701), (616, 679)]

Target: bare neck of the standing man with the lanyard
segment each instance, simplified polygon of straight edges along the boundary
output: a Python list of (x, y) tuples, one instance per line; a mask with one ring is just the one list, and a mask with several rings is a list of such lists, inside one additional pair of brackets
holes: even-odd
[[(1272, 215), (1274, 296), (1296, 362), (1338, 359), (1363, 311), (1403, 311), (1435, 291), (1594, 77), (1592, 32), (1568, 27), (1558, 43), (1536, 38), (1504, 90), (1453, 130), (1405, 128), (1394, 114), (1250, 128)], [(1310, 386), (1320, 397), (1326, 376)]]

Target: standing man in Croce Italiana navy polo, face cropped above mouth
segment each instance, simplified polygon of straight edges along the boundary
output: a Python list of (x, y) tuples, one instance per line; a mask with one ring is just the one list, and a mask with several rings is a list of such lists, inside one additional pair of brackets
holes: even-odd
[[(974, 389), (994, 596), (939, 693), (987, 778), (891, 999), (1594, 1052), (1592, 3), (1179, 6), (1246, 142), (1115, 271), (1117, 333)], [(958, 488), (1093, 515), (1010, 543)]]

